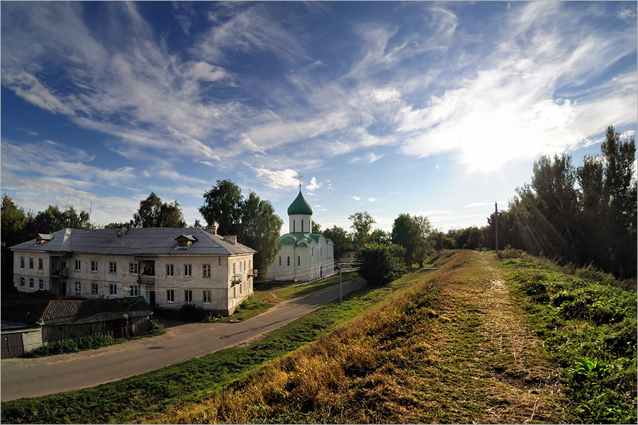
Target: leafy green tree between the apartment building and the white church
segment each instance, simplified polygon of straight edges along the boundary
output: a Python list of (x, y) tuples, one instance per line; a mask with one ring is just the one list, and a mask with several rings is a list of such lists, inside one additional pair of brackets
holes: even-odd
[(265, 277), (279, 251), (277, 243), (284, 221), (274, 214), (270, 202), (259, 199), (252, 191), (242, 201), (241, 212), (241, 223), (235, 226), (239, 230), (237, 238), (257, 251), (253, 257), (254, 268), (259, 270), (258, 276)]

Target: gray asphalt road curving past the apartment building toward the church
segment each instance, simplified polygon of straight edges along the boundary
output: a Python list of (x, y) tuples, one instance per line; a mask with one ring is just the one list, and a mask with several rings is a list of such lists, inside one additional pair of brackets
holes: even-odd
[[(365, 285), (343, 284), (343, 293)], [(94, 387), (174, 365), (222, 348), (254, 341), (268, 331), (308, 314), (340, 296), (339, 285), (277, 304), (252, 319), (233, 324), (167, 322), (167, 333), (117, 346), (45, 358), (8, 358), (0, 363), (0, 399), (38, 397)]]

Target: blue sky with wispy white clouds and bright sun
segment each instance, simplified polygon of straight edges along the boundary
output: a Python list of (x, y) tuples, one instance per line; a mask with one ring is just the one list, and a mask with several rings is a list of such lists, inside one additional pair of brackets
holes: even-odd
[(217, 180), (322, 228), (485, 226), (638, 126), (636, 1), (1, 1), (0, 190), (189, 225)]

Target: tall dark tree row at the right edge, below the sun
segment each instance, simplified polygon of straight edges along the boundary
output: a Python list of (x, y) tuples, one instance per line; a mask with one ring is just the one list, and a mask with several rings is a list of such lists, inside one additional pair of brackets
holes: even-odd
[[(569, 155), (542, 157), (531, 184), (498, 213), (498, 239), (561, 263), (593, 264), (621, 279), (637, 276), (636, 142), (607, 128), (601, 155), (573, 167)], [(494, 246), (496, 213), (485, 229)]]

